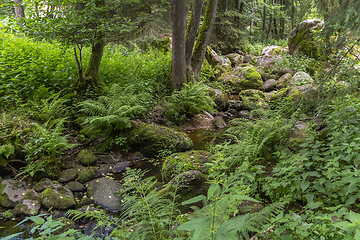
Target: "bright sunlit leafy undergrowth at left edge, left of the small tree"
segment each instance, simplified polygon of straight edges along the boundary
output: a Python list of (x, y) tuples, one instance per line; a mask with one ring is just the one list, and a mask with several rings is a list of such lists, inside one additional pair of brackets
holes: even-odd
[(0, 106), (11, 108), (29, 100), (41, 88), (42, 98), (75, 87), (76, 67), (69, 50), (58, 44), (33, 42), (0, 33)]

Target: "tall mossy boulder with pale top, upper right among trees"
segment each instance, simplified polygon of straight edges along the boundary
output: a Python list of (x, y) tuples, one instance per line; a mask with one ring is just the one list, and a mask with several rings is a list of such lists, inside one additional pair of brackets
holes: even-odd
[(308, 57), (319, 59), (321, 44), (314, 38), (314, 30), (324, 26), (320, 19), (309, 19), (299, 23), (292, 31), (288, 40), (289, 54), (305, 54)]

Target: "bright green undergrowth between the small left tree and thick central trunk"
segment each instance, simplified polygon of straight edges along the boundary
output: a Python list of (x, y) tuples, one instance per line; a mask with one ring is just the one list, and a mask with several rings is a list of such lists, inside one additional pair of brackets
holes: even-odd
[(132, 51), (124, 46), (110, 45), (104, 50), (99, 70), (99, 81), (104, 85), (113, 83), (121, 87), (134, 86), (136, 93), (163, 97), (169, 94), (171, 53), (149, 49), (142, 52), (134, 47)]

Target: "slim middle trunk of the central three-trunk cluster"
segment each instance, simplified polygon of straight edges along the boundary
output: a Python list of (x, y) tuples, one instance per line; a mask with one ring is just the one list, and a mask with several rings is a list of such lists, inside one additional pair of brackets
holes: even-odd
[(203, 0), (195, 0), (192, 13), (190, 15), (190, 19), (186, 28), (185, 57), (186, 57), (186, 65), (188, 67), (191, 67), (191, 55), (193, 52), (196, 35), (198, 33), (198, 29), (200, 25), (202, 5), (203, 5)]

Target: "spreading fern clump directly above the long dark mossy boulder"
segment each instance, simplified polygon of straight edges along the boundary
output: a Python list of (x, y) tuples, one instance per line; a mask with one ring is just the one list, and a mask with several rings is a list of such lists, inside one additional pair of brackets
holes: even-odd
[(106, 96), (97, 100), (86, 100), (78, 104), (80, 111), (89, 117), (83, 119), (90, 130), (99, 132), (123, 130), (131, 127), (130, 119), (143, 116), (146, 112), (146, 97), (136, 94), (132, 85), (120, 87), (113, 84)]

